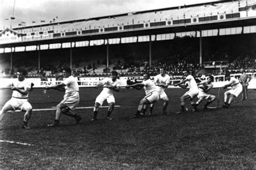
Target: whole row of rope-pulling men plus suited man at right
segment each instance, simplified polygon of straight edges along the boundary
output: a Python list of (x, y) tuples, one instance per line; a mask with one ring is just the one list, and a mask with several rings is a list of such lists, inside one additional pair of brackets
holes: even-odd
[[(228, 80), (228, 83), (226, 83), (223, 86), (223, 89), (231, 87), (231, 90), (228, 90), (224, 93), (223, 107), (228, 108), (230, 106), (233, 97), (238, 97), (238, 95), (243, 91), (243, 86), (245, 94), (243, 94), (242, 99), (247, 99), (247, 86), (248, 81), (250, 81), (251, 78), (248, 77), (247, 74), (245, 74), (244, 70), (241, 69), (241, 72), (242, 76), (240, 77), (240, 80), (235, 79), (234, 77), (230, 77), (230, 74), (225, 75), (225, 78)], [(184, 89), (188, 88), (189, 90), (185, 94), (183, 94), (183, 96), (180, 97), (181, 110), (177, 113), (179, 114), (185, 112), (185, 100), (187, 99), (190, 100), (190, 103), (193, 106), (193, 112), (198, 111), (198, 105), (201, 103), (201, 101), (207, 99), (207, 103), (203, 106), (203, 108), (207, 110), (207, 106), (216, 99), (215, 96), (207, 94), (207, 92), (213, 87), (213, 76), (208, 77), (207, 80), (203, 80), (200, 83), (197, 83), (189, 71), (184, 71), (183, 73), (185, 76), (184, 79), (181, 80), (179, 83), (173, 85), (180, 86)], [(19, 109), (25, 112), (22, 128), (28, 129), (28, 120), (32, 114), (32, 106), (28, 101), (28, 97), (32, 83), (29, 81), (29, 79), (25, 78), (25, 75), (25, 70), (18, 70), (17, 79), (12, 84), (10, 84), (10, 89), (13, 91), (12, 97), (9, 101), (5, 103), (0, 112), (0, 121), (2, 121), (3, 115), (6, 112), (15, 111)], [(58, 91), (65, 91), (64, 99), (60, 101), (60, 103), (56, 107), (55, 120), (52, 124), (48, 126), (58, 126), (61, 114), (73, 117), (76, 121), (75, 124), (79, 123), (79, 121), (82, 119), (79, 115), (73, 113), (73, 110), (75, 110), (75, 108), (79, 104), (79, 87), (77, 80), (75, 77), (72, 76), (71, 69), (69, 67), (64, 68), (63, 76), (65, 77), (65, 79), (62, 81), (62, 83), (45, 87), (45, 90), (54, 89)], [(149, 114), (152, 114), (153, 105), (159, 99), (164, 101), (162, 113), (167, 114), (166, 108), (169, 103), (169, 98), (167, 97), (164, 90), (169, 86), (169, 84), (170, 76), (165, 72), (164, 68), (161, 68), (160, 74), (154, 77), (153, 81), (150, 79), (149, 73), (144, 73), (142, 83), (127, 85), (127, 89), (133, 88), (140, 90), (144, 88), (146, 94), (145, 97), (142, 100), (140, 100), (136, 114), (131, 118), (144, 116), (148, 106), (150, 106)], [(112, 76), (100, 81), (99, 84), (95, 86), (95, 88), (98, 87), (103, 87), (103, 90), (102, 92), (100, 92), (100, 94), (97, 96), (95, 100), (95, 106), (93, 108), (93, 118), (91, 120), (97, 120), (99, 106), (102, 106), (105, 100), (109, 104), (106, 119), (112, 120), (110, 115), (114, 109), (115, 104), (113, 93), (119, 92), (121, 87), (120, 80), (118, 79), (118, 73), (116, 71), (112, 71)], [(228, 96), (230, 96), (229, 99)], [(198, 97), (198, 100), (196, 102), (192, 101), (195, 97)]]

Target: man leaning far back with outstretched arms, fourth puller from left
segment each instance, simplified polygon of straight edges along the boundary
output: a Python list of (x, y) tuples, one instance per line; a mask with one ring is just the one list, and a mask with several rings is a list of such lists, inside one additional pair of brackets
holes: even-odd
[(142, 83), (136, 83), (133, 85), (127, 85), (126, 88), (129, 89), (130, 87), (140, 90), (144, 87), (146, 96), (140, 100), (137, 113), (134, 117), (139, 117), (140, 115), (144, 115), (146, 112), (145, 105), (154, 104), (159, 100), (160, 94), (160, 87), (156, 86), (154, 82), (150, 79), (150, 74), (145, 73), (143, 74), (143, 81)]

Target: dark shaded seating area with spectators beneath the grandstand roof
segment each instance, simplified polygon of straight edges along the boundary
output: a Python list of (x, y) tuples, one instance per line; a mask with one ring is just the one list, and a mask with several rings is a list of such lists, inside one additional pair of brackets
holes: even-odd
[[(209, 37), (208, 39), (204, 39), (203, 61), (227, 61), (228, 67), (220, 67), (219, 71), (213, 72), (214, 74), (224, 74), (226, 70), (232, 71), (241, 68), (246, 70), (255, 69), (255, 44), (241, 43), (245, 41), (245, 39), (248, 42), (251, 41), (250, 35), (247, 37), (245, 36), (247, 35), (237, 37)], [(232, 43), (230, 44), (230, 42)], [(194, 72), (197, 72), (201, 69), (199, 65), (198, 38), (177, 37), (169, 42), (154, 43), (155, 44), (152, 45), (154, 46), (154, 51), (152, 51), (151, 65), (149, 64), (146, 43), (134, 46), (129, 44), (126, 45), (126, 47), (124, 47), (125, 45), (123, 44), (119, 46), (117, 45), (116, 47), (112, 46), (112, 51), (116, 53), (113, 53), (112, 56), (110, 55), (109, 57), (109, 68), (106, 67), (107, 62), (106, 59), (104, 59), (104, 46), (91, 47), (92, 49), (87, 51), (83, 51), (83, 48), (78, 49), (78, 51), (75, 51), (74, 49), (73, 68), (75, 69), (73, 69), (73, 72), (84, 75), (109, 73), (112, 70), (117, 70), (120, 74), (140, 73), (145, 71), (156, 73), (159, 72), (160, 67), (165, 67), (167, 72), (177, 76), (182, 74), (182, 71), (184, 70), (193, 70)], [(84, 57), (83, 53), (86, 53), (86, 56), (89, 55), (90, 57)], [(39, 71), (35, 71), (37, 70), (38, 65), (37, 59), (31, 60), (31, 56), (14, 57), (15, 60), (13, 65), (15, 69), (2, 68), (2, 75), (12, 75), (15, 70), (17, 70), (17, 67), (22, 65), (28, 68), (27, 70), (32, 74), (40, 75), (43, 79), (43, 77), (49, 76), (47, 75), (49, 72), (51, 72), (51, 74), (56, 74), (60, 72), (63, 67), (69, 66), (67, 65), (67, 63), (70, 63), (69, 52), (56, 50), (54, 54), (49, 52), (46, 55), (49, 55), (48, 58), (41, 57), (43, 59), (41, 70)], [(56, 58), (51, 55), (56, 55)], [(96, 61), (95, 58), (98, 60)], [(112, 63), (111, 60), (113, 58), (116, 58), (117, 62)], [(99, 70), (98, 67), (102, 68), (100, 72), (96, 72), (96, 70)]]

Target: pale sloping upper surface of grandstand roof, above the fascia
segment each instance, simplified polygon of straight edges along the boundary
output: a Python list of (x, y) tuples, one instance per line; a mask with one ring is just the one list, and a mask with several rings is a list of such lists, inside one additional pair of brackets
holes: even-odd
[(23, 32), (35, 32), (40, 30), (52, 30), (54, 32), (66, 32), (69, 30), (85, 30), (94, 28), (107, 28), (109, 26), (129, 25), (144, 22), (165, 21), (166, 19), (181, 19), (191, 17), (216, 16), (219, 13), (235, 13), (238, 12), (238, 3), (245, 6), (245, 1), (241, 2), (225, 2), (225, 3), (206, 3), (198, 6), (186, 7), (179, 6), (176, 9), (158, 9), (146, 12), (131, 12), (127, 15), (80, 19), (78, 21), (70, 21), (64, 23), (41, 23), (35, 25), (34, 28), (23, 28)]

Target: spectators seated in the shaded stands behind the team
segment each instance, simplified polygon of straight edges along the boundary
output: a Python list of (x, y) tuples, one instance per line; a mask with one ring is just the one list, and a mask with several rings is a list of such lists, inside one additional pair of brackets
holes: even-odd
[[(241, 68), (244, 69), (252, 69), (254, 66), (255, 59), (252, 56), (247, 55), (246, 57), (239, 56), (238, 58), (235, 58), (233, 62), (228, 63), (227, 68), (219, 68), (218, 72), (214, 72), (214, 74), (224, 74), (227, 70), (239, 70)], [(173, 76), (181, 75), (182, 71), (184, 70), (193, 70), (194, 72), (198, 71), (200, 69), (199, 62), (196, 62), (196, 60), (193, 57), (180, 57), (180, 56), (171, 56), (171, 57), (163, 57), (158, 60), (154, 60), (152, 64), (150, 65), (148, 61), (137, 61), (134, 62), (121, 62), (118, 60), (117, 63), (113, 64), (113, 67), (107, 68), (105, 67), (102, 72), (103, 73), (109, 73), (112, 70), (119, 70), (119, 73), (136, 73), (136, 72), (159, 72), (159, 69), (161, 67), (165, 67), (166, 71), (172, 74)], [(44, 64), (41, 68), (41, 70), (37, 71), (36, 74), (43, 80), (46, 80), (46, 71), (51, 72), (51, 74), (58, 73), (62, 70), (63, 65), (60, 64), (59, 66), (53, 66), (50, 64)], [(94, 73), (94, 70), (96, 69), (96, 64), (92, 63), (86, 66), (84, 66), (82, 69), (73, 69), (73, 72), (76, 74), (90, 74)], [(91, 72), (89, 72), (91, 70)], [(5, 75), (12, 75), (14, 74), (14, 69), (6, 68), (2, 70), (2, 73)]]

